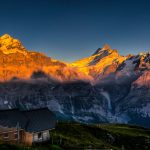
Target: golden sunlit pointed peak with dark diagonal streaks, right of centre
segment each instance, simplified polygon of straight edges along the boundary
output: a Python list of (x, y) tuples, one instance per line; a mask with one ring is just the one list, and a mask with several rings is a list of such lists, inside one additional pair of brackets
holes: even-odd
[(125, 56), (121, 56), (117, 50), (111, 49), (106, 44), (103, 48), (98, 48), (90, 57), (73, 62), (71, 65), (97, 79), (115, 72), (118, 66), (126, 59)]

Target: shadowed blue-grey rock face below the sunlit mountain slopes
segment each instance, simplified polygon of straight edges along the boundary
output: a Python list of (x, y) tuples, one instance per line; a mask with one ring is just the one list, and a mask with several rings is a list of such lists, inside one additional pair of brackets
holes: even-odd
[(84, 81), (61, 83), (43, 74), (27, 81), (15, 79), (0, 84), (0, 109), (48, 107), (63, 120), (150, 127), (150, 88), (137, 86), (142, 76), (97, 85)]

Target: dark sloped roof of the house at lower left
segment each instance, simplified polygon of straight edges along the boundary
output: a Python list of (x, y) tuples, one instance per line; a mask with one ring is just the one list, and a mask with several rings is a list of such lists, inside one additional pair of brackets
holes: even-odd
[(17, 123), (28, 132), (38, 132), (55, 127), (55, 115), (48, 108), (20, 111), (0, 110), (0, 126), (16, 127)]

